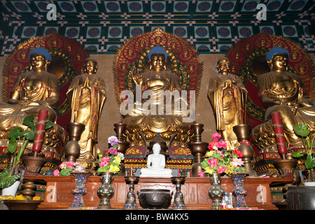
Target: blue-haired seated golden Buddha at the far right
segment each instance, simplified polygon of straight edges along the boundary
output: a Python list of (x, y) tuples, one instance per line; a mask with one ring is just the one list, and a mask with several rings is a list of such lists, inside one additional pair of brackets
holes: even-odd
[(295, 134), (293, 125), (305, 123), (309, 125), (311, 132), (314, 132), (315, 107), (306, 93), (300, 76), (287, 71), (289, 59), (287, 50), (280, 47), (272, 48), (266, 59), (271, 71), (259, 76), (257, 81), (260, 100), (267, 108), (266, 123), (253, 129), (253, 143), (260, 150), (276, 144), (271, 114), (280, 112), (288, 147), (297, 146), (301, 139)]

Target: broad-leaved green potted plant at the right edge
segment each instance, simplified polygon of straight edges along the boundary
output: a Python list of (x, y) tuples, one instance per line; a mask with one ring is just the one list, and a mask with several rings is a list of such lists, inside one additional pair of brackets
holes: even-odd
[[(305, 165), (305, 168), (307, 169), (307, 183), (304, 183), (304, 185), (315, 186), (315, 183), (314, 184), (311, 183), (311, 182), (315, 182), (315, 174), (314, 174), (315, 155), (314, 155), (314, 152), (312, 151), (315, 137), (311, 139), (310, 137), (311, 131), (309, 130), (308, 125), (306, 124), (296, 124), (293, 126), (293, 130), (297, 136), (302, 137), (302, 142), (303, 142), (305, 152), (306, 152), (306, 160), (304, 160), (304, 165)], [(299, 149), (298, 151), (292, 154), (294, 158), (300, 158), (301, 161), (304, 155), (305, 154), (303, 153), (301, 149)]]

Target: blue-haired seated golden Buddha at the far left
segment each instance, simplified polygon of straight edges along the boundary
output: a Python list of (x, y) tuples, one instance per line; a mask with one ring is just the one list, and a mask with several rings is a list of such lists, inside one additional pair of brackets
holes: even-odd
[(47, 71), (51, 55), (44, 48), (36, 48), (29, 53), (31, 71), (21, 73), (10, 94), (7, 104), (0, 104), (0, 139), (15, 127), (24, 127), (22, 120), (29, 115), (38, 117), (41, 109), (48, 111), (48, 120), (54, 123), (55, 134), (59, 139), (64, 132), (57, 125), (55, 109), (59, 104), (59, 79)]

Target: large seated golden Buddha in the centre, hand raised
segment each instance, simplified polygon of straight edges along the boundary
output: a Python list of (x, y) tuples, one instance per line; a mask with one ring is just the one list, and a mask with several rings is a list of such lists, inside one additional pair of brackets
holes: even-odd
[[(127, 136), (130, 146), (143, 143), (140, 135), (139, 138), (134, 137), (134, 134), (137, 135), (134, 132), (141, 130), (151, 140), (155, 133), (170, 131), (166, 137), (162, 134), (162, 138), (168, 140), (178, 130), (188, 132), (195, 120), (195, 108), (188, 106), (186, 91), (181, 91), (179, 76), (165, 70), (167, 52), (155, 47), (148, 52), (148, 58), (150, 71), (134, 73), (132, 79), (136, 90), (131, 94), (125, 93), (128, 99), (120, 105), (124, 118), (122, 123), (127, 125), (127, 132), (132, 132)], [(120, 97), (123, 99), (122, 94)], [(182, 142), (188, 140), (188, 137), (184, 137)]]

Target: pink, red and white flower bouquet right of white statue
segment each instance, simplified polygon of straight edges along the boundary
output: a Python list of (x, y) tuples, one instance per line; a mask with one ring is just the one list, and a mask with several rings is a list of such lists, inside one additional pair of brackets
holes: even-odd
[(221, 134), (214, 133), (211, 137), (213, 141), (209, 143), (209, 151), (206, 159), (202, 161), (202, 169), (199, 176), (204, 174), (232, 174), (233, 172), (246, 172), (244, 162), (241, 160), (243, 154), (235, 148), (228, 149), (227, 143), (221, 138)]

